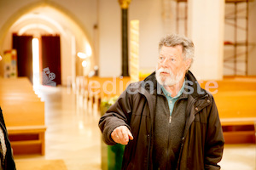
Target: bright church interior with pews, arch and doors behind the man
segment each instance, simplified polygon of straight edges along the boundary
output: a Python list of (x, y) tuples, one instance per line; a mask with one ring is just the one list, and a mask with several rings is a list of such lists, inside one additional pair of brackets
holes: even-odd
[(99, 119), (178, 33), (218, 107), (221, 169), (255, 170), (255, 27), (253, 0), (0, 0), (0, 107), (17, 169), (113, 169)]

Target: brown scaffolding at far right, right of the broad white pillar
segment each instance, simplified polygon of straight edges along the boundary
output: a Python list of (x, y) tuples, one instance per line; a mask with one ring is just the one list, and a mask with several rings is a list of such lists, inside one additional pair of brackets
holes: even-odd
[[(224, 55), (224, 68), (233, 71), (232, 76), (248, 75), (248, 11), (249, 0), (225, 0), (226, 6), (233, 6), (233, 11), (225, 14), (225, 24), (234, 28), (233, 40), (225, 41), (225, 47), (233, 48), (233, 54)], [(239, 8), (242, 7), (242, 8)], [(242, 31), (242, 32), (241, 32)], [(242, 36), (243, 35), (243, 36)], [(239, 40), (243, 37), (243, 40)], [(224, 48), (228, 50), (229, 48)], [(228, 53), (229, 54), (229, 53)], [(244, 67), (244, 68), (241, 68)]]

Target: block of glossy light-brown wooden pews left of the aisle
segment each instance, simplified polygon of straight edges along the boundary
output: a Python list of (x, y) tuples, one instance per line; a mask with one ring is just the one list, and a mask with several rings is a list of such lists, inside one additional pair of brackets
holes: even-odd
[(0, 79), (0, 105), (14, 154), (44, 155), (44, 102), (28, 79)]

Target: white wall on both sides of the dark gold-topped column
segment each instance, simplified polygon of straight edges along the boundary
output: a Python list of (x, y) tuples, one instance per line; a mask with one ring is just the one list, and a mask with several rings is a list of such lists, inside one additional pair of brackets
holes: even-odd
[[(140, 70), (154, 71), (158, 57), (158, 42), (163, 34), (161, 1), (131, 1), (129, 23), (139, 20)], [(121, 8), (118, 1), (100, 1), (100, 75), (121, 74)], [(130, 30), (130, 28), (129, 28)]]

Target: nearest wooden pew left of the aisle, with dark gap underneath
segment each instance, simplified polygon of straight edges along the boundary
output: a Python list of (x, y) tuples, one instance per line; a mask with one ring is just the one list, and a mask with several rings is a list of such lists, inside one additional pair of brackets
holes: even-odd
[(0, 99), (9, 140), (15, 155), (44, 155), (44, 103)]

